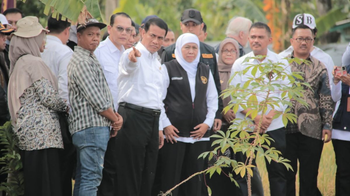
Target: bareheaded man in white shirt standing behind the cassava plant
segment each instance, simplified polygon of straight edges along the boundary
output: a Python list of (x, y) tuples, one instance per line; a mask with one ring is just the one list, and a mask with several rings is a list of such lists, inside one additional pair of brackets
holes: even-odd
[[(267, 49), (267, 46), (272, 42), (272, 37), (271, 30), (266, 24), (261, 22), (252, 24), (249, 30), (248, 41), (253, 51), (244, 55), (243, 57), (240, 57), (235, 61), (235, 63), (232, 66), (231, 75), (233, 75), (235, 72), (244, 70), (246, 66), (248, 66), (247, 64), (267, 63), (269, 60), (271, 60), (274, 63), (281, 62), (285, 64), (286, 71), (290, 72), (290, 67), (288, 66), (289, 64), (287, 60), (282, 59), (281, 56)], [(262, 55), (266, 57), (262, 59), (251, 59), (248, 62), (243, 63), (246, 57), (255, 57), (257, 55)], [(259, 71), (257, 72), (257, 74), (259, 75)], [(244, 75), (236, 74), (235, 77), (233, 77), (230, 85), (236, 86), (237, 84), (240, 84), (241, 86), (243, 86), (245, 81), (248, 80), (247, 77), (254, 77), (251, 71), (248, 71)], [(285, 85), (289, 83), (287, 79), (275, 82), (277, 82), (278, 84)], [(276, 92), (274, 96), (280, 97), (281, 93)], [(257, 99), (259, 102), (264, 100), (264, 98), (260, 96), (257, 96)], [(282, 105), (280, 107), (275, 107), (274, 110), (269, 108), (264, 115), (258, 114), (257, 117), (252, 119), (252, 121), (256, 123), (259, 122), (260, 118), (263, 118), (262, 130), (260, 130), (260, 133), (266, 132), (269, 135), (269, 137), (274, 139), (274, 142), (271, 142), (270, 147), (275, 147), (276, 150), (281, 151), (282, 154), (286, 149), (285, 127), (283, 125), (281, 116), (276, 119), (272, 119), (272, 117), (274, 116), (275, 111), (283, 112), (285, 109), (286, 107)], [(249, 109), (244, 110), (243, 108), (239, 107), (239, 110), (236, 113), (236, 118), (246, 118), (245, 116), (248, 110)], [(248, 117), (251, 118), (251, 115), (248, 115)], [(273, 184), (273, 186), (270, 186), (271, 196), (286, 195), (287, 180), (285, 176), (285, 166), (283, 166), (283, 164), (271, 161), (270, 164), (266, 164), (266, 168), (268, 172), (269, 182), (270, 184)]]

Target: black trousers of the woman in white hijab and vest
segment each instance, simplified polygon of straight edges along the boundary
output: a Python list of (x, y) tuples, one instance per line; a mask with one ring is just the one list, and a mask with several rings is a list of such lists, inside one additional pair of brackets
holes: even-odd
[[(195, 143), (165, 142), (161, 149), (161, 191), (173, 188), (190, 175), (200, 172), (204, 167), (204, 159), (198, 156), (205, 152), (208, 141)], [(172, 196), (200, 196), (203, 175), (197, 175), (172, 191)]]

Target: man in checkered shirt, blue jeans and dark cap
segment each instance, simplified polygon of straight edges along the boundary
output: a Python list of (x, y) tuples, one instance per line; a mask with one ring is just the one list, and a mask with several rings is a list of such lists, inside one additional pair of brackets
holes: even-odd
[(74, 196), (96, 196), (107, 142), (117, 135), (123, 124), (123, 118), (113, 111), (110, 89), (93, 54), (104, 27), (106, 24), (92, 18), (78, 24), (78, 45), (67, 68), (72, 110), (69, 130), (77, 148)]

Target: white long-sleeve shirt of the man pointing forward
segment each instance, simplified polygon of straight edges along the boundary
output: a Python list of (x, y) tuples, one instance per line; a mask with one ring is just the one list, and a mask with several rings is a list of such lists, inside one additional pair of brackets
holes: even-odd
[[(128, 56), (133, 48), (127, 49), (119, 61), (118, 103), (126, 102), (149, 109), (162, 110), (163, 73), (157, 60), (158, 53), (149, 52), (141, 42), (136, 46), (141, 52), (137, 62), (133, 63)], [(163, 130), (161, 112), (159, 130)]]

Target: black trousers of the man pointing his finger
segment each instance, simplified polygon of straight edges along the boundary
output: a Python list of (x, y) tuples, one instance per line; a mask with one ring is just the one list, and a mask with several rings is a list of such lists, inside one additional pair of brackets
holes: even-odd
[(159, 117), (119, 106), (123, 127), (116, 136), (119, 196), (150, 196), (158, 147)]

